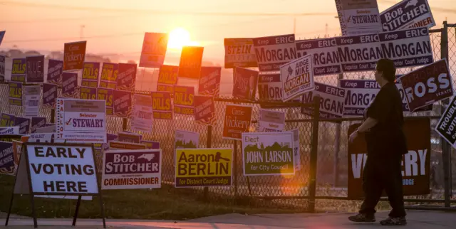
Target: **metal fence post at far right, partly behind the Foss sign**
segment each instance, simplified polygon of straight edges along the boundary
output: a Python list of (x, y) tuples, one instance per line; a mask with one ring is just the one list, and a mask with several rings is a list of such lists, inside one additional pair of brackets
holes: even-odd
[[(443, 21), (443, 28), (440, 35), (440, 58), (445, 58), (447, 63), (450, 63), (448, 60), (448, 24), (447, 21)], [(440, 115), (445, 112), (445, 105), (448, 105), (449, 99), (443, 100), (440, 106)], [(450, 179), (450, 157), (451, 157), (451, 146), (443, 138), (440, 138), (442, 144), (442, 163), (443, 163), (443, 181), (445, 186), (445, 207), (449, 208), (451, 205), (451, 184)]]

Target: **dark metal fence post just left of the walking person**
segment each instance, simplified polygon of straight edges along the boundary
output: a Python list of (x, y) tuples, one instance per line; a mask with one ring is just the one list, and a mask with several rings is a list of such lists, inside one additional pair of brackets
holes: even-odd
[(318, 124), (320, 119), (321, 97), (314, 97), (314, 117), (312, 120), (311, 157), (309, 170), (309, 212), (315, 212), (316, 164), (318, 161)]

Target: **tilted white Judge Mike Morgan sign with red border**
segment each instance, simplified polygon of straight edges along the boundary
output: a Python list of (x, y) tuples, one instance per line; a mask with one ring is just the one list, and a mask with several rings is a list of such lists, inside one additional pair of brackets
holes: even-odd
[(280, 66), (284, 102), (294, 99), (310, 90), (314, 90), (312, 57), (305, 55)]

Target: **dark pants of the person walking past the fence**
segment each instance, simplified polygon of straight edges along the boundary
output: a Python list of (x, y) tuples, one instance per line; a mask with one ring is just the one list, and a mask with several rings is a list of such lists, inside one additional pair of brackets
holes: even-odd
[[(368, 156), (363, 171), (364, 201), (359, 213), (374, 214), (375, 206), (380, 201), (383, 190), (388, 195), (388, 201), (393, 210), (391, 218), (406, 215), (403, 201), (403, 184), (400, 161), (402, 156), (387, 155), (387, 152)], [(382, 155), (383, 154), (383, 155)]]

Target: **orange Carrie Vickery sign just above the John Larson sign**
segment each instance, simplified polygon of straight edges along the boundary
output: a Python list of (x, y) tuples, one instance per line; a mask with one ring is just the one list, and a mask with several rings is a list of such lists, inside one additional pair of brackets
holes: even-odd
[(243, 132), (249, 132), (252, 109), (251, 106), (227, 105), (222, 139), (240, 140)]

